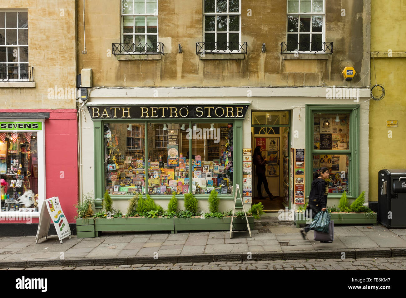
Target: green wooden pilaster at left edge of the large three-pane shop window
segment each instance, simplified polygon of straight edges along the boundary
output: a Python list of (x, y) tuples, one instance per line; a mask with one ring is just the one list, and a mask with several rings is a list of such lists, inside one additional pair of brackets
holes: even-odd
[(93, 134), (94, 134), (94, 173), (95, 173), (95, 198), (102, 199), (104, 195), (104, 141), (103, 141), (103, 122), (93, 121)]

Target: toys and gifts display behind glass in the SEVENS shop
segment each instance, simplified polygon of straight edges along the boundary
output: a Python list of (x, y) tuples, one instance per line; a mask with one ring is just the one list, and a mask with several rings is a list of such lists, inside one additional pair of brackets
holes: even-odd
[(1, 212), (38, 211), (36, 132), (0, 133)]

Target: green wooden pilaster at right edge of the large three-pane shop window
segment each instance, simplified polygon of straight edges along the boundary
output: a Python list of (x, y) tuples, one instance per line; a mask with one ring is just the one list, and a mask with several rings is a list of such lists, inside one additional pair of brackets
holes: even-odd
[[(243, 119), (241, 120), (234, 120), (234, 129), (233, 129), (233, 190), (235, 189), (236, 185), (238, 184), (240, 187), (240, 191), (242, 194), (243, 186), (242, 186), (242, 141), (243, 141)], [(238, 196), (240, 193), (237, 194)], [(241, 199), (244, 199), (242, 197)], [(235, 208), (242, 208), (242, 203), (237, 201), (235, 204)]]

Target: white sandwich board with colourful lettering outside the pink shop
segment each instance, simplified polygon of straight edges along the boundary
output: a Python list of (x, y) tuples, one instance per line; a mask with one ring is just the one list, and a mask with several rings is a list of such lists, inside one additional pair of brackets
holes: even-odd
[(71, 238), (71, 229), (69, 228), (65, 214), (63, 214), (62, 207), (59, 204), (59, 198), (52, 197), (42, 202), (35, 244), (37, 244), (38, 240), (42, 237), (47, 238), (51, 221), (54, 223), (60, 243), (62, 243), (62, 239), (66, 237)]

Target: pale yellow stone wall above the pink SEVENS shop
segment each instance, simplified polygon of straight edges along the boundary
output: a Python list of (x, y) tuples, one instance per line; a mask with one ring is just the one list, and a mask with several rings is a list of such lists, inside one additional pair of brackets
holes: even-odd
[(75, 5), (73, 0), (0, 1), (0, 9), (28, 9), (28, 65), (35, 80), (35, 88), (0, 88), (2, 109), (76, 107), (69, 94), (76, 87)]

